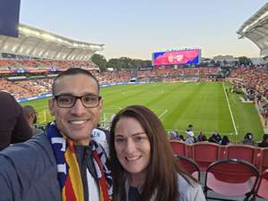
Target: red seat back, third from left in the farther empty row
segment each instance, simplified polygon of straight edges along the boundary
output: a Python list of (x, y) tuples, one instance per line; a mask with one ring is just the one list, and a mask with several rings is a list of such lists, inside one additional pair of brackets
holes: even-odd
[(247, 145), (229, 145), (226, 147), (226, 158), (238, 158), (255, 164), (256, 149)]

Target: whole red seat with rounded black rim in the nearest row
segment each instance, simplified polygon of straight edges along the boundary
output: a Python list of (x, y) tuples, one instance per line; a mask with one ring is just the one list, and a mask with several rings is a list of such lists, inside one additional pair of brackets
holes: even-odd
[(232, 200), (208, 197), (209, 190), (222, 196), (249, 197), (255, 195), (259, 172), (255, 166), (240, 159), (222, 159), (209, 165), (205, 172), (205, 198)]

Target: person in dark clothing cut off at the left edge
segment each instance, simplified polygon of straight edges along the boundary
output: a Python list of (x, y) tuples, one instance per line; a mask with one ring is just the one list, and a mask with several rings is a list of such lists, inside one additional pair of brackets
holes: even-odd
[(32, 137), (21, 105), (10, 94), (0, 91), (0, 150)]

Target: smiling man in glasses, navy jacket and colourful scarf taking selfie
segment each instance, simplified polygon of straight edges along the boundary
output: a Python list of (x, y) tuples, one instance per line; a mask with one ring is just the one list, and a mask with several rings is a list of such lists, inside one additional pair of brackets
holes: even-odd
[(104, 150), (90, 138), (103, 107), (96, 78), (68, 69), (52, 94), (45, 134), (0, 153), (0, 201), (112, 200)]

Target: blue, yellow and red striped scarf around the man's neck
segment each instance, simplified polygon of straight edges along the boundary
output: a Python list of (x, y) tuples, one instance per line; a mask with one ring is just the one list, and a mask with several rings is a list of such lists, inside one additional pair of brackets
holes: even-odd
[[(80, 167), (72, 141), (57, 130), (54, 121), (47, 124), (46, 136), (51, 143), (57, 163), (57, 175), (63, 201), (84, 201)], [(103, 148), (95, 141), (92, 143), (92, 156), (100, 188), (100, 201), (111, 201), (113, 200), (113, 181), (112, 174), (107, 168), (107, 158)]]

